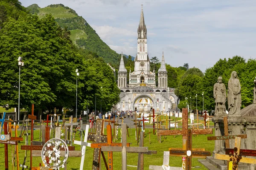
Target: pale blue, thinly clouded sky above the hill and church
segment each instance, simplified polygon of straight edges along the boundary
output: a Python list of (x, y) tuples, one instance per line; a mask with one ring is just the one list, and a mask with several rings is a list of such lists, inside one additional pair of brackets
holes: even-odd
[(20, 0), (41, 8), (62, 3), (76, 11), (117, 53), (136, 56), (143, 4), (149, 57), (205, 71), (219, 59), (256, 58), (254, 0)]

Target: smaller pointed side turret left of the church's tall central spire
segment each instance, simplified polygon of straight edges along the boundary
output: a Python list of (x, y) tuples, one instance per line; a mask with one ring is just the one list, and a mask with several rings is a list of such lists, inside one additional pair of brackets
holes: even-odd
[(127, 70), (125, 68), (123, 55), (121, 55), (121, 60), (120, 60), (120, 65), (119, 65), (119, 70), (118, 70), (117, 85), (119, 88), (127, 87)]

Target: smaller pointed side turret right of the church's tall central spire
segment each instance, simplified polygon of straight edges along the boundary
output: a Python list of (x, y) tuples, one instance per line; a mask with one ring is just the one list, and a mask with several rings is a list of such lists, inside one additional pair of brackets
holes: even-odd
[(158, 69), (158, 87), (167, 88), (167, 71), (164, 62), (164, 57), (162, 57), (161, 67)]

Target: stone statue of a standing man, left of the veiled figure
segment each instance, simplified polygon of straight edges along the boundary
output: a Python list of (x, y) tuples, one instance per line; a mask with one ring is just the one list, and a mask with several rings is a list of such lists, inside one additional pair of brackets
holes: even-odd
[(218, 114), (226, 114), (225, 102), (227, 98), (226, 86), (222, 83), (222, 77), (213, 86), (213, 97), (215, 99), (215, 111)]

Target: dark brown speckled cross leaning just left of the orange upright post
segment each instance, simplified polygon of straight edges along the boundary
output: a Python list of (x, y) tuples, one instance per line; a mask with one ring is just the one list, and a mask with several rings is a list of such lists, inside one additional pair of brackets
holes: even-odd
[[(107, 136), (103, 135), (102, 130), (103, 130), (103, 119), (97, 119), (96, 121), (96, 133), (89, 133), (88, 134), (88, 141), (93, 141), (96, 143), (106, 143), (107, 141)], [(100, 153), (101, 153), (101, 148), (94, 148), (93, 152), (93, 170), (99, 170), (99, 162), (100, 162)]]

